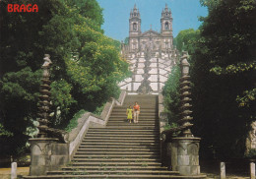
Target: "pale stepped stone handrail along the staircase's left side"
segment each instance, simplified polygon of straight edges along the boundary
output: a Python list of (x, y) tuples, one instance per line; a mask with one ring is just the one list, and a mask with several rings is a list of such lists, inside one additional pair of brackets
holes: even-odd
[(88, 132), (89, 127), (105, 127), (114, 105), (122, 105), (126, 93), (126, 90), (122, 90), (117, 100), (111, 98), (111, 101), (106, 102), (100, 116), (97, 116), (91, 112), (86, 112), (81, 118), (78, 119), (78, 126), (69, 133), (68, 141), (69, 155), (71, 156), (70, 158), (72, 158), (76, 149), (78, 149), (79, 145), (84, 139), (84, 136)]

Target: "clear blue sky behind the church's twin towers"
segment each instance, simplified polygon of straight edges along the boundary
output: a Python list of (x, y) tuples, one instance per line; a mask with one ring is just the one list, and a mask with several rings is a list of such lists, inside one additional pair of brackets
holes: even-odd
[(117, 40), (124, 40), (129, 35), (130, 11), (136, 4), (142, 19), (142, 32), (150, 30), (160, 31), (160, 14), (167, 4), (173, 18), (174, 37), (180, 30), (198, 29), (201, 22), (198, 17), (207, 16), (206, 7), (201, 7), (199, 0), (97, 0), (103, 8), (104, 24), (102, 29), (107, 36)]

